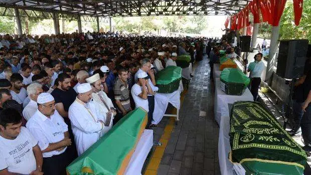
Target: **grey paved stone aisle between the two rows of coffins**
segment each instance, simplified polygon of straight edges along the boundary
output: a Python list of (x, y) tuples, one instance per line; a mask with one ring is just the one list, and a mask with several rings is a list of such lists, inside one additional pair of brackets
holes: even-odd
[[(219, 128), (214, 120), (214, 85), (209, 79), (209, 60), (198, 62), (173, 128), (158, 174), (220, 174), (218, 162)], [(201, 114), (201, 115), (200, 115)], [(159, 141), (169, 117), (154, 129)]]

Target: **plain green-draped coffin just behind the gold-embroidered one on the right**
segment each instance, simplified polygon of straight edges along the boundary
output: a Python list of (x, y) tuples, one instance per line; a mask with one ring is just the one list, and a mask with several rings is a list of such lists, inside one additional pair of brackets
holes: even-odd
[(224, 91), (228, 95), (242, 95), (250, 79), (237, 68), (225, 68), (220, 73), (220, 81), (224, 83)]

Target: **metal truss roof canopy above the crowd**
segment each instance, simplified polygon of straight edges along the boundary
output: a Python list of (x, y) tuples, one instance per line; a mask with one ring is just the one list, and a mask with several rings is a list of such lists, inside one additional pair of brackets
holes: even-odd
[[(232, 15), (243, 9), (252, 0), (0, 0), (0, 7), (32, 13), (58, 13), (59, 18), (67, 16), (132, 17), (132, 16), (172, 16), (172, 15)], [(22, 12), (22, 13), (23, 13)], [(35, 13), (36, 14), (36, 13)], [(66, 16), (67, 15), (67, 16)], [(37, 14), (32, 18), (47, 18)], [(72, 17), (71, 20), (76, 20)], [(90, 20), (93, 21), (93, 20)]]

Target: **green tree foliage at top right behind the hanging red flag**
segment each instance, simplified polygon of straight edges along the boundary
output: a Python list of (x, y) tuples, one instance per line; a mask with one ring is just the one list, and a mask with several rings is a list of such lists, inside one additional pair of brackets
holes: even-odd
[(292, 1), (287, 1), (281, 21), (280, 39), (308, 39), (311, 41), (311, 0), (303, 1), (303, 11), (299, 26), (294, 24)]

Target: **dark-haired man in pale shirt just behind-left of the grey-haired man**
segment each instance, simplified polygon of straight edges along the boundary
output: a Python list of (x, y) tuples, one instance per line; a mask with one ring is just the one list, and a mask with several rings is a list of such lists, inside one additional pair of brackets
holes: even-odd
[(17, 101), (20, 104), (23, 104), (24, 100), (27, 97), (27, 91), (23, 88), (23, 77), (18, 73), (14, 73), (11, 76), (11, 95), (13, 100)]

